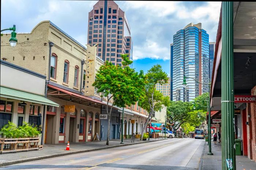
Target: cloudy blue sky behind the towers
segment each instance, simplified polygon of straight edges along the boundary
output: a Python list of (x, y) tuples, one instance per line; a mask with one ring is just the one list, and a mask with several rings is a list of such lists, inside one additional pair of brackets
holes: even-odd
[[(160, 64), (170, 75), (170, 43), (189, 23), (202, 23), (210, 42), (216, 39), (221, 2), (115, 1), (125, 11), (133, 41), (133, 67), (147, 72)], [(88, 12), (97, 1), (1, 0), (1, 29), (16, 24), (30, 32), (50, 20), (82, 45), (87, 43)]]

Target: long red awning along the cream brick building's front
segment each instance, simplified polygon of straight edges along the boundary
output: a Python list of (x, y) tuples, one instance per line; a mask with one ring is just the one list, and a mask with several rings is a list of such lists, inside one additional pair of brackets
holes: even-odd
[[(63, 93), (65, 93), (65, 94), (68, 94), (68, 95), (70, 95), (70, 97), (72, 96), (72, 97), (75, 97), (75, 98), (80, 98), (80, 99), (82, 99), (82, 100), (89, 101), (89, 102), (91, 102), (92, 104), (95, 103), (95, 104), (106, 105), (106, 104), (103, 103), (102, 101), (99, 101), (99, 100), (96, 100), (96, 99), (93, 99), (93, 98), (90, 98), (90, 97), (87, 97), (87, 96), (83, 96), (83, 95), (81, 95), (81, 94), (69, 92), (68, 90), (64, 90), (64, 89), (58, 88), (58, 87), (53, 86), (53, 85), (50, 85), (50, 84), (48, 84), (48, 87), (49, 87), (49, 88), (52, 88), (52, 89), (55, 89), (55, 90), (58, 90), (58, 91), (60, 91), (60, 92), (63, 92)], [(52, 93), (48, 93), (47, 95), (53, 97), (54, 95), (56, 96), (56, 95), (61, 95), (61, 94), (59, 94), (59, 93), (56, 94), (56, 92), (52, 92)]]

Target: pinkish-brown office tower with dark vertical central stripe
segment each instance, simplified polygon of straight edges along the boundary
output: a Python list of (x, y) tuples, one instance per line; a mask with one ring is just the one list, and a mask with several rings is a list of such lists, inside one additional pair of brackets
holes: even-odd
[(132, 60), (132, 38), (128, 20), (114, 1), (98, 1), (89, 12), (89, 45), (98, 45), (97, 55), (114, 65), (122, 62), (121, 54)]

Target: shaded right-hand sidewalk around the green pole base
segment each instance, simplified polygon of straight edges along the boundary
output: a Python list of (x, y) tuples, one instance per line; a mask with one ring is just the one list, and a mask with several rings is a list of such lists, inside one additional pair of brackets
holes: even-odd
[[(204, 144), (202, 160), (200, 161), (199, 170), (221, 170), (221, 144), (211, 143), (211, 152), (213, 155), (207, 155), (209, 151), (207, 142)], [(236, 169), (237, 170), (253, 170), (256, 167), (256, 162), (251, 161), (246, 156), (236, 155)]]

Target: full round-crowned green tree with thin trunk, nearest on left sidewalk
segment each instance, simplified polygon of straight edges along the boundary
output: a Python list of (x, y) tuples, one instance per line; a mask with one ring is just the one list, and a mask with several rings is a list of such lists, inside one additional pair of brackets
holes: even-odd
[(106, 145), (109, 145), (110, 119), (113, 106), (125, 107), (125, 105), (135, 104), (145, 94), (143, 72), (135, 72), (135, 69), (128, 66), (132, 61), (128, 59), (127, 55), (121, 55), (121, 57), (123, 58), (123, 67), (112, 65), (112, 63), (106, 61), (105, 65), (99, 68), (93, 83), (98, 92), (107, 97), (108, 134)]

